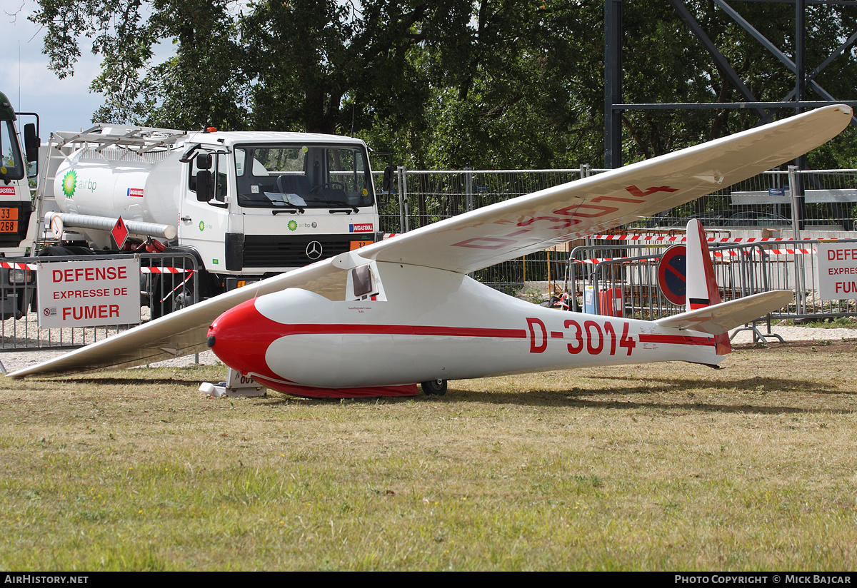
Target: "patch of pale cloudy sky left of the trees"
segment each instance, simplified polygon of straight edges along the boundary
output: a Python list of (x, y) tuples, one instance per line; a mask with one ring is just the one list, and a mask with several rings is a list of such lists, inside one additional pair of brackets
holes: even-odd
[(45, 31), (27, 20), (36, 6), (35, 0), (0, 0), (0, 92), (15, 111), (39, 113), (41, 139), (46, 140), (51, 131), (89, 128), (103, 98), (89, 91), (99, 74), (99, 58), (85, 45), (87, 39), (81, 39), (81, 60), (74, 76), (60, 80), (48, 68), (48, 58), (42, 54)]

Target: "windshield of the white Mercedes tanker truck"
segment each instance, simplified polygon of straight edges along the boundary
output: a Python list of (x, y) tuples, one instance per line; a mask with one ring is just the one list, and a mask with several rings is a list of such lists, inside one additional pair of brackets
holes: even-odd
[(242, 206), (351, 210), (373, 204), (363, 146), (237, 146), (235, 165)]

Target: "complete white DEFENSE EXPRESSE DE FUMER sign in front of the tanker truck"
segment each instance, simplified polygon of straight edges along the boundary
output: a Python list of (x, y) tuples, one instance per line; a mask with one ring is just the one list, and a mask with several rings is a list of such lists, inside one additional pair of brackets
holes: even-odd
[(36, 272), (39, 327), (140, 322), (140, 260), (42, 263)]

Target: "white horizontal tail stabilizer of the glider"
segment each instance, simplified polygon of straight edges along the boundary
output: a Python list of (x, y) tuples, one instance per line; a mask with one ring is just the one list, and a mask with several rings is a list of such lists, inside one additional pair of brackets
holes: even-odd
[(695, 311), (682, 312), (673, 317), (660, 318), (655, 321), (655, 324), (661, 327), (698, 330), (710, 335), (720, 335), (759, 317), (764, 317), (769, 312), (778, 311), (793, 301), (794, 292), (791, 290), (774, 290), (705, 306)]

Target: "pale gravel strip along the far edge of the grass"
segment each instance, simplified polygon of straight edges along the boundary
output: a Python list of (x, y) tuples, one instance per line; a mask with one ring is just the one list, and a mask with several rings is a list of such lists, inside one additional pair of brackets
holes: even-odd
[[(760, 332), (765, 335), (767, 330), (764, 324), (759, 325)], [(825, 342), (842, 342), (848, 340), (857, 340), (857, 329), (820, 329), (817, 327), (792, 327), (775, 325), (771, 328), (771, 332), (782, 336), (785, 342), (801, 342), (801, 341), (825, 341)], [(732, 331), (734, 337), (732, 342), (736, 346), (752, 344), (752, 332), (743, 330), (736, 333)], [(776, 345), (778, 341), (776, 337), (770, 337), (768, 342), (771, 345)], [(0, 363), (7, 372), (20, 370), (29, 365), (38, 364), (46, 359), (51, 359), (62, 355), (63, 351), (14, 351), (0, 353)], [(218, 362), (214, 353), (207, 351), (200, 353), (199, 363), (202, 365), (215, 365)], [(168, 359), (159, 362), (157, 365), (193, 365), (195, 359), (193, 355), (181, 357), (177, 359)], [(225, 371), (225, 368), (224, 368)]]

